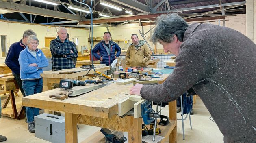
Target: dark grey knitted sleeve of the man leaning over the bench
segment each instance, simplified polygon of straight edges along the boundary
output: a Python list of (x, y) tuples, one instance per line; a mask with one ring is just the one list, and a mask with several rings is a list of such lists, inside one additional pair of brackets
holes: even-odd
[(198, 50), (197, 42), (186, 41), (180, 46), (172, 74), (163, 84), (143, 86), (141, 97), (149, 101), (174, 101), (205, 77), (206, 61)]

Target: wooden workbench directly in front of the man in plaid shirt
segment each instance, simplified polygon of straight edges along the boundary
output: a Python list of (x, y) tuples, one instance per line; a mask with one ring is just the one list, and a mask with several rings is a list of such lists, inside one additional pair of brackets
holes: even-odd
[[(103, 72), (109, 70), (109, 66), (102, 65), (101, 67), (95, 68), (95, 71)], [(60, 74), (62, 72), (63, 74)], [(72, 68), (72, 69), (62, 69), (59, 71), (43, 71), (41, 73), (41, 77), (43, 78), (43, 91), (51, 90), (52, 83), (60, 83), (61, 79), (79, 79), (85, 74), (93, 74), (93, 69), (86, 70), (80, 67)]]

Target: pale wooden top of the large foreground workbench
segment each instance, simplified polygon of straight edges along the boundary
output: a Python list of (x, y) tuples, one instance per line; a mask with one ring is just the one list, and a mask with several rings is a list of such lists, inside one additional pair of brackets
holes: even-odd
[[(94, 86), (94, 84), (75, 86), (72, 89), (79, 90), (91, 86)], [(64, 100), (49, 98), (49, 95), (61, 92), (60, 89), (57, 88), (24, 97), (22, 99), (22, 103), (24, 106), (29, 107), (110, 118), (114, 114), (118, 113), (117, 103), (130, 96), (129, 89), (131, 86), (132, 84), (117, 85), (116, 83), (112, 83), (98, 90), (94, 90), (77, 97), (69, 97)]]

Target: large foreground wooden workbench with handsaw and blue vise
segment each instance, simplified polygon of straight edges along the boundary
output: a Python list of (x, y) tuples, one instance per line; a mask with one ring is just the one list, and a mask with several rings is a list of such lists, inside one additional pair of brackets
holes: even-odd
[[(79, 90), (91, 86), (94, 85), (75, 86), (73, 89)], [(77, 143), (77, 123), (128, 132), (129, 143), (141, 143), (142, 118), (118, 116), (118, 103), (129, 98), (132, 86), (132, 83), (126, 85), (112, 83), (78, 97), (69, 97), (64, 100), (49, 98), (49, 95), (60, 92), (57, 88), (23, 97), (22, 103), (28, 107), (65, 112), (66, 143)], [(123, 104), (122, 108), (126, 106), (130, 105)], [(169, 102), (169, 119), (170, 123), (167, 126), (158, 126), (161, 128), (160, 135), (165, 137), (161, 143), (164, 143), (168, 137), (169, 143), (177, 142), (176, 101)]]

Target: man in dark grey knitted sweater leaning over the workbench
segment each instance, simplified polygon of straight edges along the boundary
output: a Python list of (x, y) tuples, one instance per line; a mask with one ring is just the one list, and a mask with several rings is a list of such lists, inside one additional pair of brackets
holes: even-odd
[(227, 27), (187, 23), (177, 14), (158, 17), (153, 41), (176, 55), (163, 84), (136, 84), (130, 94), (149, 101), (174, 101), (193, 89), (225, 143), (256, 142), (256, 45)]

